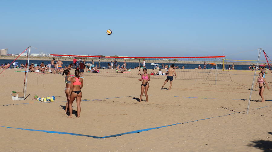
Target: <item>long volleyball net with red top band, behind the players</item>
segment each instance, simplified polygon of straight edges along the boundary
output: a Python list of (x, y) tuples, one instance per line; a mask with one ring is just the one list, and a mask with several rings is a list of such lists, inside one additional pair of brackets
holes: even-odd
[[(176, 79), (231, 81), (228, 71), (222, 70), (222, 61), (225, 56), (210, 57), (120, 57), (120, 56), (84, 56), (50, 54), (57, 60), (63, 61), (63, 66), (74, 64), (80, 68), (80, 60), (85, 61), (83, 76), (112, 76), (140, 78), (143, 69), (151, 79), (166, 79), (167, 71), (172, 64), (176, 71)], [(67, 61), (66, 61), (67, 60)]]

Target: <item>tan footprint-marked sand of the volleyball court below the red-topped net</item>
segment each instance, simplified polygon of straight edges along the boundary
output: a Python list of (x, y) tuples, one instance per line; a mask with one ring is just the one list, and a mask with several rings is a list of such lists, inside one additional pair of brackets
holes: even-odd
[[(28, 75), (28, 98), (11, 100), (11, 91), (23, 88), (24, 73), (14, 71), (18, 69), (0, 75), (1, 105), (38, 103), (34, 95), (66, 101), (64, 78), (38, 73)], [(264, 97), (270, 101), (264, 103), (257, 102), (261, 98), (253, 91), (250, 108), (254, 110), (248, 115), (235, 113), (247, 109), (252, 74), (234, 72), (233, 82), (217, 85), (214, 81), (174, 80), (171, 91), (160, 88), (163, 79), (151, 79), (148, 103), (137, 101), (138, 78), (85, 76), (82, 100), (89, 101), (81, 101), (80, 119), (75, 115), (67, 118), (66, 102), (18, 104), (0, 106), (0, 126), (102, 137), (234, 114), (104, 139), (0, 127), (0, 151), (264, 151), (258, 147), (272, 145), (271, 90), (265, 88)], [(271, 78), (267, 74), (270, 86)], [(169, 82), (165, 87), (169, 88)], [(76, 102), (73, 106), (76, 110)], [(256, 110), (259, 107), (264, 108)], [(254, 147), (254, 142), (260, 143)]]

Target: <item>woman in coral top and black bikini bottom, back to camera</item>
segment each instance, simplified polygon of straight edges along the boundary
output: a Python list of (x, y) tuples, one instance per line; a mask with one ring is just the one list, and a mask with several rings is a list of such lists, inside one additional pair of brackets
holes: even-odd
[(82, 93), (81, 93), (81, 88), (83, 87), (83, 79), (80, 78), (79, 76), (79, 70), (76, 69), (75, 70), (75, 77), (71, 79), (71, 88), (70, 88), (70, 92), (69, 92), (69, 111), (70, 111), (70, 118), (73, 117), (73, 108), (72, 108), (72, 104), (74, 102), (74, 100), (76, 99), (76, 105), (77, 105), (77, 118), (79, 118), (80, 115), (80, 101), (81, 101), (81, 97), (82, 97)]

